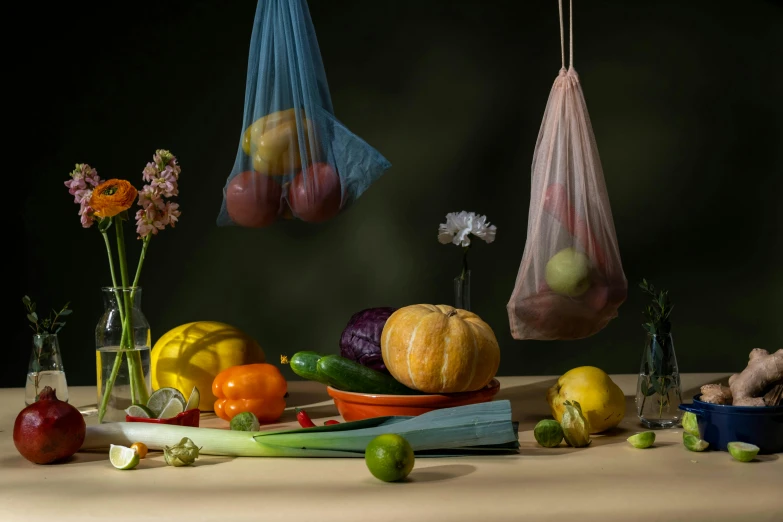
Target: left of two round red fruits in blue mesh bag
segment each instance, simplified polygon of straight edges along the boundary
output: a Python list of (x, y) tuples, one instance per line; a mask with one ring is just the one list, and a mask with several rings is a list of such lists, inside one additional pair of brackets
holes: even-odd
[(238, 174), (226, 190), (226, 210), (239, 226), (261, 228), (277, 220), (283, 188), (271, 176), (247, 170)]

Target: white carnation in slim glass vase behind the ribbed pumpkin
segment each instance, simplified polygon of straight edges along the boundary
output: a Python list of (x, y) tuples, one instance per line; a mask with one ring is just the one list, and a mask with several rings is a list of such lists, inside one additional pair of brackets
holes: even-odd
[(497, 227), (487, 222), (487, 216), (474, 212), (449, 212), (446, 222), (438, 227), (438, 241), (444, 245), (454, 244), (462, 247), (462, 272), (454, 278), (454, 308), (470, 311), (470, 269), (468, 251), (470, 236), (473, 235), (486, 243), (495, 240)]

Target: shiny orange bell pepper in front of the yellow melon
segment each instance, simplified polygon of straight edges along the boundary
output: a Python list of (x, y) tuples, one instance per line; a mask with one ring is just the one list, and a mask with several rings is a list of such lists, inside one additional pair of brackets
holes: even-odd
[(215, 413), (227, 421), (249, 411), (260, 423), (275, 422), (285, 410), (287, 391), (283, 374), (266, 363), (232, 366), (212, 381), (212, 393), (217, 397)]

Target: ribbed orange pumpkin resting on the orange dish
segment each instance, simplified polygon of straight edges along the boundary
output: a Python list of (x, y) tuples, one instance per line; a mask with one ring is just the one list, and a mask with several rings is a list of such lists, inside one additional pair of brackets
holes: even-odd
[(492, 328), (478, 315), (447, 305), (394, 312), (383, 327), (381, 355), (395, 379), (427, 393), (480, 390), (500, 365)]

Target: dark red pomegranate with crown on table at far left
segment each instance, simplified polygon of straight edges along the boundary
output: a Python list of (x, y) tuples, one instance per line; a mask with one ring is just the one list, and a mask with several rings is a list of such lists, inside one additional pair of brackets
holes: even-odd
[(87, 425), (79, 410), (57, 398), (46, 386), (38, 400), (21, 412), (14, 423), (14, 446), (36, 464), (67, 459), (82, 447)]

